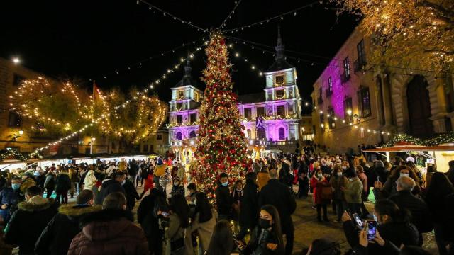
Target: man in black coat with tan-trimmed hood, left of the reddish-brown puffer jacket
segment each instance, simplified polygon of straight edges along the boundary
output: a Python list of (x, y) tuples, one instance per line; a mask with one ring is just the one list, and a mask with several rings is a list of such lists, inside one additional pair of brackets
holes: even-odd
[(102, 209), (100, 205), (93, 206), (93, 200), (93, 191), (84, 190), (77, 196), (76, 205), (60, 206), (59, 213), (50, 220), (36, 242), (36, 254), (67, 254), (72, 239), (82, 230), (79, 219), (87, 213)]

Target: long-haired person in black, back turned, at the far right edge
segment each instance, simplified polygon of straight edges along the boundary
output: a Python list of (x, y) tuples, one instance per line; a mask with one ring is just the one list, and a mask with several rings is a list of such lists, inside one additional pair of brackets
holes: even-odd
[[(426, 203), (433, 217), (439, 254), (453, 254), (454, 186), (445, 174), (433, 173), (431, 185), (426, 191)], [(446, 249), (446, 244), (450, 244), (450, 253)]]

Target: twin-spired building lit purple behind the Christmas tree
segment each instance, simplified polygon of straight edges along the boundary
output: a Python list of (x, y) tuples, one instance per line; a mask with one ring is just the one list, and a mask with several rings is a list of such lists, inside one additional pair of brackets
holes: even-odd
[[(278, 28), (275, 62), (265, 76), (265, 89), (238, 96), (241, 123), (250, 149), (281, 149), (294, 152), (300, 139), (301, 96), (297, 70), (284, 57), (284, 45)], [(192, 157), (199, 129), (199, 106), (204, 92), (191, 76), (189, 59), (184, 76), (172, 88), (170, 101), (169, 143), (174, 152)], [(260, 145), (260, 146), (258, 146)]]

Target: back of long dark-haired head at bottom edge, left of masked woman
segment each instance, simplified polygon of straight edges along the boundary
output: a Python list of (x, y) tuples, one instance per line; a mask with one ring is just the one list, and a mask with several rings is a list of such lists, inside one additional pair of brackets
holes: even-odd
[(230, 255), (232, 250), (232, 227), (227, 220), (221, 220), (214, 226), (213, 235), (211, 235), (205, 255)]

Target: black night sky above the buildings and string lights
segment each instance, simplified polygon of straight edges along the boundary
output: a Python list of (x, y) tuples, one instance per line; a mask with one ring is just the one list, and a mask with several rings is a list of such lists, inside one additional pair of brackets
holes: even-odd
[[(207, 29), (217, 28), (235, 6), (233, 1), (148, 1)], [(226, 29), (261, 21), (311, 2), (243, 0), (233, 18), (227, 21)], [(336, 17), (333, 8), (327, 7), (330, 6), (314, 4), (298, 11), (296, 16), (285, 16), (283, 20), (279, 18), (262, 26), (228, 33), (228, 36), (258, 42), (265, 45), (260, 47), (274, 51), (270, 47), (276, 45), (277, 23), (280, 23), (286, 55), (304, 60), (288, 61), (297, 67), (299, 90), (307, 100), (312, 84), (329, 57), (333, 57), (357, 23), (356, 18), (348, 14)], [(95, 79), (101, 89), (120, 86), (125, 91), (130, 86), (142, 89), (155, 81), (169, 67), (179, 63), (181, 57), (186, 57), (189, 50), (201, 44), (202, 37), (207, 38), (206, 33), (163, 16), (159, 11), (150, 11), (147, 5), (138, 5), (135, 0), (1, 1), (0, 22), (0, 57), (18, 56), (25, 67), (50, 77), (77, 79), (79, 86), (89, 88), (90, 79)], [(194, 40), (198, 40), (196, 45), (160, 56)], [(235, 41), (228, 40), (230, 42)], [(236, 51), (264, 71), (274, 61), (272, 55), (262, 54), (262, 50), (253, 50), (239, 41), (234, 47)], [(152, 56), (157, 57), (150, 60)], [(204, 52), (197, 52), (192, 63), (192, 74), (197, 80), (204, 60)], [(231, 62), (234, 91), (245, 94), (264, 89), (264, 77), (259, 77), (257, 71), (251, 72), (250, 64), (233, 54)], [(170, 87), (182, 74), (183, 69), (179, 69), (156, 86), (160, 98), (170, 100)], [(201, 81), (199, 86), (203, 86)]]

